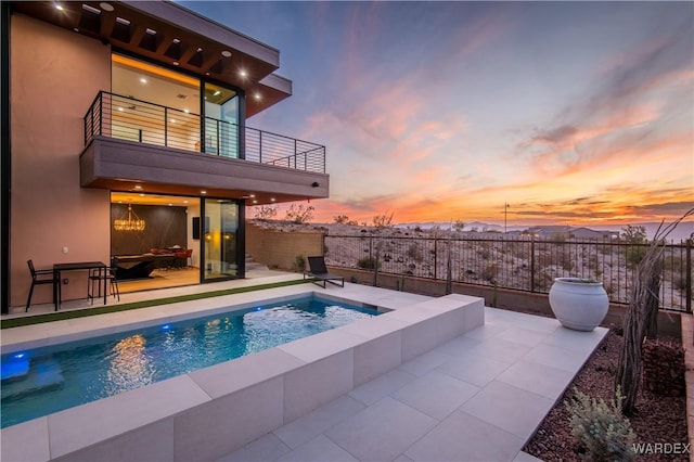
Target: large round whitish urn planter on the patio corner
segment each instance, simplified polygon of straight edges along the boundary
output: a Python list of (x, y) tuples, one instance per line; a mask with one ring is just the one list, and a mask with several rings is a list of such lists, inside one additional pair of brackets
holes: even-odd
[(609, 298), (602, 282), (556, 278), (550, 288), (550, 307), (563, 326), (592, 331), (607, 316)]

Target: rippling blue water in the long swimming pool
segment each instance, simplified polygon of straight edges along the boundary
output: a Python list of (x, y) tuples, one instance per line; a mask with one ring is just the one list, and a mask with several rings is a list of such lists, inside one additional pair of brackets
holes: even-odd
[(3, 355), (1, 426), (95, 401), (376, 315), (377, 311), (344, 303), (303, 297)]

